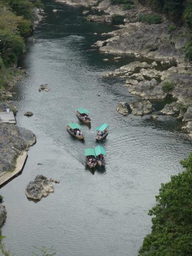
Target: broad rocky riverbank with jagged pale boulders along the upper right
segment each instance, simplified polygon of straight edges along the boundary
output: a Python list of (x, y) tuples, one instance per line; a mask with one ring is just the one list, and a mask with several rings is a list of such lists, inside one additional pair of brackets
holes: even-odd
[[(93, 10), (104, 13), (101, 16), (88, 15), (88, 21), (112, 23), (114, 16), (123, 16), (124, 24), (119, 25), (118, 30), (105, 33), (108, 38), (97, 41), (95, 47), (98, 47), (101, 53), (118, 55), (119, 58), (121, 54), (132, 54), (137, 61), (102, 76), (124, 78), (129, 92), (145, 100), (141, 104), (140, 100), (137, 102), (142, 108), (148, 108), (148, 100), (172, 97), (176, 102), (167, 104), (160, 114), (174, 115), (186, 122), (183, 129), (192, 137), (192, 65), (185, 60), (184, 53), (185, 45), (191, 39), (188, 26), (185, 24), (174, 27), (174, 24), (163, 16), (160, 24), (139, 22), (141, 14), (151, 15), (154, 12), (138, 1), (134, 1), (130, 10), (125, 10), (122, 4), (111, 5), (110, 0), (56, 1), (69, 5), (92, 6)], [(174, 30), (171, 30), (171, 27), (174, 27)], [(148, 59), (147, 63), (142, 62), (141, 58)], [(145, 102), (147, 106), (144, 106)], [(130, 104), (133, 107), (136, 103)], [(122, 111), (119, 107), (117, 109), (127, 114), (125, 108)], [(142, 110), (132, 111), (133, 114), (140, 112), (141, 115), (145, 114)], [(152, 112), (152, 109), (148, 112)]]

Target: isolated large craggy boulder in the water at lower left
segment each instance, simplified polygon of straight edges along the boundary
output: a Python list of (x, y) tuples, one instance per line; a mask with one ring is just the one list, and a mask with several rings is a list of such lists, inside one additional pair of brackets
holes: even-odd
[(47, 177), (41, 174), (37, 175), (35, 180), (31, 181), (25, 189), (27, 198), (34, 201), (39, 201), (42, 197), (46, 197), (49, 193), (53, 192), (54, 188), (52, 183)]

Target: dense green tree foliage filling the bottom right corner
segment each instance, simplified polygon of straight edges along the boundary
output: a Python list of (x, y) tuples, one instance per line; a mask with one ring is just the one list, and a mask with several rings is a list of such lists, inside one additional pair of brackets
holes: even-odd
[(181, 165), (186, 171), (161, 184), (157, 204), (149, 211), (155, 216), (152, 232), (139, 256), (192, 255), (192, 153)]

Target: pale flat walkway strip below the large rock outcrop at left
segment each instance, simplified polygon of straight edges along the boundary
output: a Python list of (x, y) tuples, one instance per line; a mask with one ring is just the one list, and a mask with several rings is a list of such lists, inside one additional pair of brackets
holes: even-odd
[(23, 171), (24, 164), (27, 159), (27, 151), (24, 151), (23, 155), (20, 155), (16, 161), (16, 168), (14, 171), (2, 171), (0, 172), (0, 187), (11, 180), (14, 176), (17, 176)]

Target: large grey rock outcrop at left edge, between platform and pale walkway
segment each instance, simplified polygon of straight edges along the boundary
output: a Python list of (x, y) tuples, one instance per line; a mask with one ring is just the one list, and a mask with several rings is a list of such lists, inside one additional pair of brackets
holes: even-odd
[(36, 143), (36, 136), (14, 124), (0, 123), (0, 171), (15, 168), (16, 158)]

